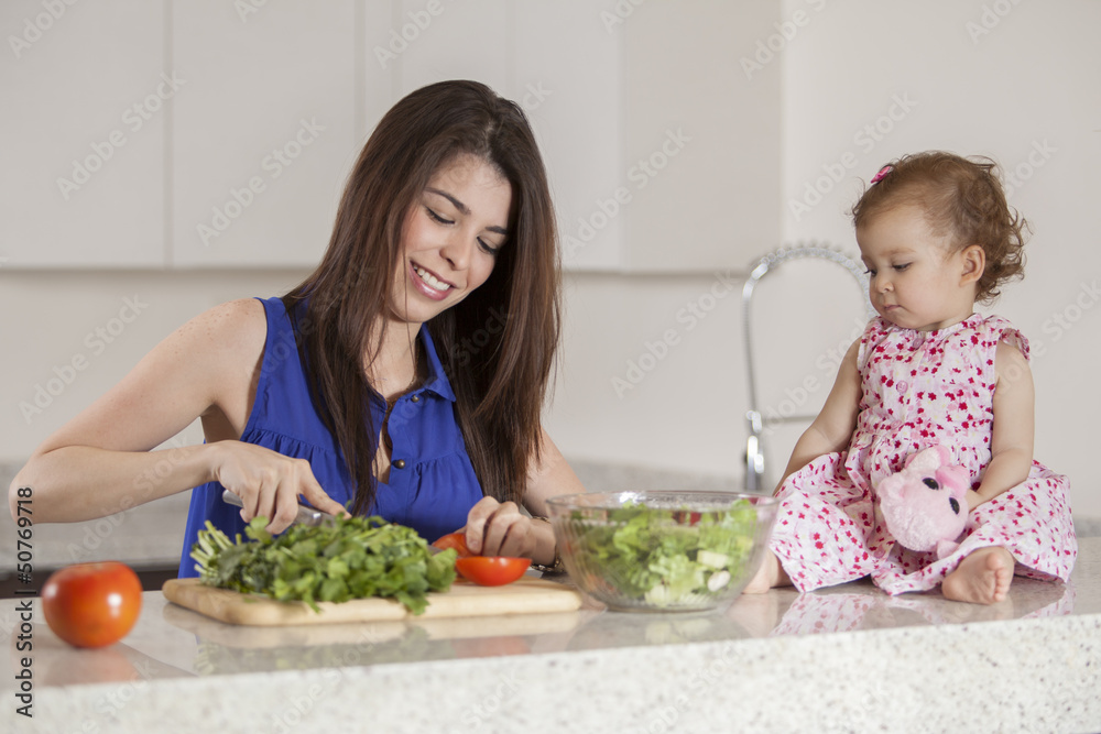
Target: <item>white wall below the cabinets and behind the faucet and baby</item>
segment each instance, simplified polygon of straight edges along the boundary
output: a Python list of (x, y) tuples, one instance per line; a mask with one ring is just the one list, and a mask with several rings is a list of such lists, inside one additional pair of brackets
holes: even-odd
[[(1029, 165), (1029, 155), (1040, 164), (1031, 172), (1022, 167), (1029, 175), (1012, 195), (1012, 204), (1035, 227), (1027, 277), (1006, 289), (996, 310), (1043, 350), (1034, 360), (1036, 456), (1070, 474), (1077, 513), (1101, 515), (1089, 463), (1101, 408), (1093, 383), (1101, 309), (1092, 308), (1101, 271), (1095, 204), (1101, 194), (1101, 52), (1094, 43), (1101, 3), (785, 0), (783, 8), (783, 18), (795, 20), (782, 30), (793, 37), (763, 36), (761, 42), (778, 48), (766, 65), (782, 65), (785, 78), (785, 241), (821, 240), (854, 252), (843, 212), (859, 191), (858, 178), (866, 180), (903, 152), (948, 147), (994, 155), (1010, 168)], [(999, 19), (995, 8), (1011, 10), (972, 42), (967, 24), (981, 24), (984, 8), (991, 24)], [(805, 15), (796, 18), (796, 11)], [(744, 55), (756, 51), (745, 47)], [(896, 108), (901, 119), (866, 150), (858, 131), (889, 114), (896, 96), (913, 100), (912, 109), (903, 114)], [(1048, 153), (1034, 154), (1037, 146)], [(836, 168), (840, 162), (852, 164), (841, 182), (797, 219), (788, 201), (825, 175), (822, 166)], [(738, 227), (730, 222), (732, 233)], [(772, 245), (761, 243), (761, 251)], [(227, 298), (282, 293), (303, 275), (14, 271), (2, 264), (0, 313), (7, 316), (0, 328), (7, 359), (0, 360), (0, 462), (25, 458), (194, 314)], [(793, 266), (762, 284), (754, 300), (762, 335), (762, 407), (813, 410), (825, 396), (831, 350), (851, 338), (861, 313), (846, 277)], [(740, 474), (748, 406), (740, 276), (571, 273), (566, 283), (564, 362), (547, 412), (563, 450), (585, 460)], [(837, 293), (843, 295), (836, 298)], [(116, 324), (127, 297), (148, 306), (132, 322)], [(1058, 318), (1068, 325), (1075, 320), (1062, 329)], [(119, 332), (111, 343), (88, 337), (112, 327)], [(81, 357), (84, 369), (64, 369)], [(640, 372), (630, 371), (631, 362), (640, 364)], [(36, 386), (62, 380), (55, 368), (72, 383), (51, 396), (41, 414), (25, 418), (20, 403), (33, 403)], [(631, 387), (617, 390), (617, 377)], [(194, 430), (189, 436), (195, 438)], [(773, 462), (786, 461), (793, 440), (792, 431), (771, 437)]]

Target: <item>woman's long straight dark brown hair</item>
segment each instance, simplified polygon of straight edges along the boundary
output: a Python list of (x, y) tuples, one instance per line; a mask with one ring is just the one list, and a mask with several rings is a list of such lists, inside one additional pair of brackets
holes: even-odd
[(403, 224), (432, 176), (460, 154), (486, 161), (512, 185), (509, 241), (486, 283), (427, 327), (482, 492), (519, 502), (539, 459), (562, 318), (546, 171), (514, 102), (475, 81), (429, 85), (382, 118), (348, 179), (320, 264), (283, 296), (314, 403), (356, 483), (353, 514), (369, 512), (375, 496), (381, 427), (371, 418), (364, 364), (380, 348), (373, 327), (390, 307)]

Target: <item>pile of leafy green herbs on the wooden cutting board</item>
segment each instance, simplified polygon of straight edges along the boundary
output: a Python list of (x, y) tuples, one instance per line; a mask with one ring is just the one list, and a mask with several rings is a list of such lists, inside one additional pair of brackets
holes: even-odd
[(230, 541), (207, 521), (192, 558), (203, 583), (280, 601), (346, 602), (390, 596), (413, 614), (427, 606), (429, 591), (455, 581), (456, 551), (433, 555), (415, 530), (381, 517), (338, 517), (310, 527), (292, 525), (272, 536), (257, 517)]

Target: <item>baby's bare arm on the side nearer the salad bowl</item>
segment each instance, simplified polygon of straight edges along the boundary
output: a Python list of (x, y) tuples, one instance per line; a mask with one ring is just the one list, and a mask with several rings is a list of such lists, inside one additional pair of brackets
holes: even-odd
[(833, 388), (830, 390), (818, 417), (795, 443), (792, 458), (787, 462), (780, 485), (776, 486), (776, 492), (780, 492), (784, 480), (818, 457), (824, 453), (841, 451), (849, 446), (852, 431), (857, 426), (857, 413), (860, 409), (860, 370), (857, 369), (859, 349), (860, 340), (858, 339), (844, 353), (841, 366), (837, 371), (837, 379), (833, 381)]

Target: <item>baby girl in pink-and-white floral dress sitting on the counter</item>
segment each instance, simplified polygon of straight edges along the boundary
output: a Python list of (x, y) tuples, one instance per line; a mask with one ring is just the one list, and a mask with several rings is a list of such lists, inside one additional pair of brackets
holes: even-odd
[[(1014, 572), (1065, 581), (1077, 556), (1069, 482), (1033, 460), (1028, 342), (973, 310), (1023, 274), (1026, 224), (996, 166), (905, 156), (872, 178), (852, 217), (880, 317), (795, 446), (771, 552), (746, 591), (870, 576), (891, 594), (940, 584), (948, 599), (991, 604)], [(874, 506), (879, 480), (934, 445), (971, 475), (967, 528), (945, 558), (895, 543)]]

